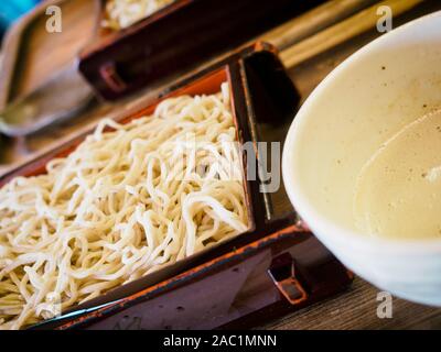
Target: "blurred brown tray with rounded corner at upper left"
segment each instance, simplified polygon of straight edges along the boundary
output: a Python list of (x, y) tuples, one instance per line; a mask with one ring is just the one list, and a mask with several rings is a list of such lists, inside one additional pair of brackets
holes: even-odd
[[(61, 10), (61, 32), (46, 29), (50, 6)], [(43, 2), (10, 29), (2, 46), (0, 132), (33, 133), (90, 101), (94, 94), (77, 72), (77, 55), (95, 36), (97, 10), (90, 0)]]

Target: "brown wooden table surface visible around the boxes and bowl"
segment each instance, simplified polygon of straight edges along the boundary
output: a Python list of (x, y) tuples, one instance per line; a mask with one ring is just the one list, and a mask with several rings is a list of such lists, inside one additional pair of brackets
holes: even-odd
[[(395, 23), (396, 25), (433, 11), (423, 8), (406, 14)], [(323, 53), (289, 70), (303, 99), (345, 57), (364, 44), (378, 36), (372, 31), (352, 41), (348, 41), (331, 51)], [(51, 56), (47, 56), (51, 61)], [(50, 63), (49, 63), (50, 64)], [(150, 92), (149, 95), (154, 95)], [(141, 92), (136, 102), (133, 99), (117, 105), (93, 105), (88, 111), (77, 119), (58, 127), (51, 128), (26, 140), (3, 139), (0, 146), (0, 175), (11, 165), (35, 157), (45, 150), (51, 150), (64, 140), (72, 138), (79, 130), (90, 125), (104, 114), (127, 109), (127, 106), (141, 103), (149, 99), (149, 95)], [(261, 329), (440, 329), (441, 309), (426, 307), (402, 299), (394, 298), (392, 318), (377, 317), (378, 289), (356, 277), (353, 285), (336, 297), (318, 302), (280, 319), (269, 321), (258, 327)]]

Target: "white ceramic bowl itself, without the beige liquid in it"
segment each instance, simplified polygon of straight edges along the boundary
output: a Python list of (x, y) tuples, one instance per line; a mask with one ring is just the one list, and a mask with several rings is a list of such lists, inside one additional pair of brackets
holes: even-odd
[(374, 152), (440, 107), (437, 12), (379, 37), (335, 68), (297, 114), (282, 161), (292, 204), (342, 263), (398, 297), (434, 306), (441, 306), (441, 240), (359, 233), (352, 199), (356, 176)]

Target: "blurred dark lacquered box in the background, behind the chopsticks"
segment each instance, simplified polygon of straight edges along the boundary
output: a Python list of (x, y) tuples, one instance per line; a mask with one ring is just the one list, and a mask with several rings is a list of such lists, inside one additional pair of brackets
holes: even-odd
[(99, 24), (79, 55), (79, 70), (95, 91), (112, 100), (154, 87), (201, 66), (324, 0), (176, 0), (127, 29)]

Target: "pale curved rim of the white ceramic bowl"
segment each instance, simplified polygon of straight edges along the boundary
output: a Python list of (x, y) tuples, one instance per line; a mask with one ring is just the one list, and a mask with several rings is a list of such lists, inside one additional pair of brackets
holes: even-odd
[[(349, 57), (343, 61), (337, 67), (335, 67), (308, 97), (305, 102), (302, 105), (298, 113), (295, 114), (293, 122), (291, 123), (284, 146), (282, 152), (282, 178), (283, 184), (291, 204), (294, 206), (295, 211), (300, 215), (302, 219), (305, 220), (308, 226), (312, 229), (314, 234), (325, 242), (325, 244), (331, 244), (331, 242), (341, 242), (341, 244), (347, 246), (348, 249), (359, 250), (363, 249), (364, 252), (380, 253), (394, 253), (400, 254), (427, 254), (427, 253), (441, 253), (441, 239), (387, 239), (380, 237), (368, 237), (357, 231), (352, 231), (337, 224), (335, 221), (327, 219), (320, 211), (315, 210), (312, 201), (302, 190), (302, 187), (294, 182), (297, 172), (294, 167), (290, 167), (292, 160), (295, 157), (293, 155), (293, 146), (297, 145), (299, 132), (298, 125), (304, 120), (309, 119), (309, 110), (316, 105), (316, 97), (322, 96), (322, 94), (331, 86), (335, 78), (344, 75), (345, 72), (355, 64), (359, 58), (368, 55), (370, 51), (381, 47), (385, 43), (392, 40), (397, 34), (410, 31), (415, 26), (421, 25), (426, 22), (439, 21), (441, 23), (441, 11), (435, 11), (433, 13), (426, 14), (421, 18), (412, 20), (404, 25), (400, 25), (385, 35), (380, 35), (374, 41), (369, 42)], [(303, 132), (304, 133), (304, 132)], [(340, 248), (341, 245), (338, 245)]]

